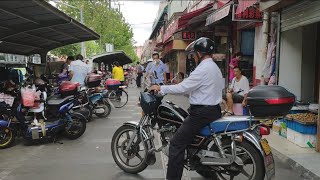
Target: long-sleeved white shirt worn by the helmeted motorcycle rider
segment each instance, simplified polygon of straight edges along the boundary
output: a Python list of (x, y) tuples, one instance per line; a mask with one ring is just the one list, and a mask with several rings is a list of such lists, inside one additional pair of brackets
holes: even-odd
[(217, 64), (203, 60), (190, 76), (177, 85), (161, 86), (164, 94), (189, 94), (192, 105), (217, 105), (222, 101), (224, 79)]

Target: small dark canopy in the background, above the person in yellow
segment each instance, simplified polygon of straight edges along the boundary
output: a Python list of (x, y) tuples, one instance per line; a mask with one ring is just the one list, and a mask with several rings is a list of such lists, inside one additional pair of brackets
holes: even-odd
[(109, 52), (92, 57), (94, 63), (112, 64), (118, 61), (120, 65), (132, 63), (132, 60), (123, 52)]

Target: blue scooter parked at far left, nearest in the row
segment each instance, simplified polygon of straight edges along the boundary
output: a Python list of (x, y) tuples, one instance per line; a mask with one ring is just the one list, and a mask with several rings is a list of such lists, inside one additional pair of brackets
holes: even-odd
[(86, 130), (86, 119), (82, 114), (72, 112), (74, 103), (75, 99), (70, 96), (49, 99), (46, 108), (49, 108), (54, 115), (44, 117), (46, 121), (40, 123), (34, 123), (26, 119), (25, 113), (30, 108), (25, 108), (22, 104), (19, 104), (18, 107), (10, 107), (1, 103), (0, 148), (11, 146), (16, 136), (24, 137), (28, 143), (37, 140), (55, 141), (56, 135), (60, 132), (63, 132), (68, 139), (79, 138)]

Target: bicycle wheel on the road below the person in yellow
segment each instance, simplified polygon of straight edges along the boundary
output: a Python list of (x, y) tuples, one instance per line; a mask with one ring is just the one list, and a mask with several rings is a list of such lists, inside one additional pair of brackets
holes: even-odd
[(129, 99), (128, 93), (123, 89), (111, 91), (108, 98), (115, 108), (122, 108), (128, 103)]

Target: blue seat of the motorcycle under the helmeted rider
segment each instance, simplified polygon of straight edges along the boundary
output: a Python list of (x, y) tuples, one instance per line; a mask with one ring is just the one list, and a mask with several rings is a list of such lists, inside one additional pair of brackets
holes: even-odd
[[(211, 122), (200, 130), (199, 135), (210, 136), (212, 133), (239, 131), (250, 127), (250, 116), (226, 116)], [(213, 131), (213, 132), (212, 132)]]

